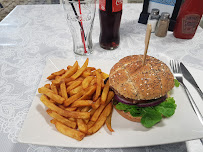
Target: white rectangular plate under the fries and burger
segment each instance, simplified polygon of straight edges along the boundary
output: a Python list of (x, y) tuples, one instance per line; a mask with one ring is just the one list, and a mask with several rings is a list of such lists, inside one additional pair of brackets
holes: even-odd
[[(66, 68), (67, 65), (73, 65), (74, 62), (74, 59), (48, 60), (39, 87), (49, 82), (46, 77), (51, 73)], [(90, 60), (89, 66), (101, 68), (102, 71), (109, 73), (115, 62)], [(80, 65), (82, 63), (84, 60), (79, 61)], [(170, 118), (162, 119), (151, 129), (143, 127), (140, 123), (124, 119), (114, 110), (112, 116), (114, 133), (111, 134), (106, 127), (102, 127), (94, 135), (85, 137), (82, 141), (76, 141), (59, 133), (49, 122), (51, 117), (46, 113), (46, 107), (39, 99), (40, 95), (36, 93), (18, 141), (77, 148), (119, 148), (159, 145), (202, 138), (203, 126), (193, 112), (183, 89), (181, 87), (175, 88), (172, 96), (177, 104), (175, 114)], [(200, 104), (200, 106), (202, 106), (201, 111), (203, 111), (203, 105)]]

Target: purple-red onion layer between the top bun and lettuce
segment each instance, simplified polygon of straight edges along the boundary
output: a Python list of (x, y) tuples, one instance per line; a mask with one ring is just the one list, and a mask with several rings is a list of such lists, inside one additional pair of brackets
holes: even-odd
[(166, 98), (167, 98), (167, 95), (165, 95), (161, 98), (158, 98), (158, 99), (153, 99), (153, 100), (131, 100), (131, 99), (128, 100), (126, 98), (120, 97), (117, 94), (114, 95), (114, 99), (117, 100), (118, 102), (121, 102), (121, 103), (127, 104), (127, 105), (136, 105), (138, 107), (156, 106), (156, 105), (162, 103), (163, 101), (165, 101)]

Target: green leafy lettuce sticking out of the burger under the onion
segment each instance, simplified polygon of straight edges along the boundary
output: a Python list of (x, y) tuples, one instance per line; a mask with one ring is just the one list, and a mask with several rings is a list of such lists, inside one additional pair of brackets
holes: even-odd
[(162, 115), (171, 117), (175, 113), (176, 106), (173, 97), (169, 97), (154, 107), (138, 107), (136, 105), (126, 105), (119, 102), (116, 105), (116, 109), (130, 112), (133, 117), (142, 116), (141, 124), (146, 128), (150, 128), (161, 121)]

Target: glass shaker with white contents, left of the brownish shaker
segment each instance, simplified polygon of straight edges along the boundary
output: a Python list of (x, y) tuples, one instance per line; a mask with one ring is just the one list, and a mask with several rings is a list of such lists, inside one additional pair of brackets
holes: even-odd
[(151, 14), (148, 18), (148, 24), (151, 24), (151, 27), (152, 27), (152, 33), (155, 32), (155, 28), (156, 28), (156, 25), (158, 23), (158, 20), (159, 20), (159, 9), (156, 9), (156, 8), (153, 8), (152, 11), (151, 11)]

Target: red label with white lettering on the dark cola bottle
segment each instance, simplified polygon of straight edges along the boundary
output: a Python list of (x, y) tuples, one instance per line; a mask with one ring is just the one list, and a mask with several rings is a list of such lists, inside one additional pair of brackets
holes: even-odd
[[(112, 12), (119, 12), (122, 10), (123, 0), (112, 0)], [(106, 0), (99, 0), (99, 9), (106, 11)]]

